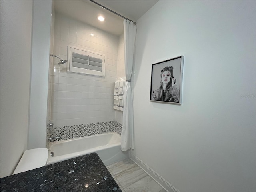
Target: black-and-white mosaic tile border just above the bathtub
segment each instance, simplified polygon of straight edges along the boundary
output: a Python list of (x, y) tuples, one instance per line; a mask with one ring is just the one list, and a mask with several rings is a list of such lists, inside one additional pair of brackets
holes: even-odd
[[(117, 121), (89, 123), (64, 127), (53, 127), (50, 129), (50, 137), (62, 136), (60, 139), (52, 139), (49, 142), (74, 139), (90, 135), (117, 132), (121, 135), (122, 124)], [(49, 138), (49, 137), (48, 137)]]

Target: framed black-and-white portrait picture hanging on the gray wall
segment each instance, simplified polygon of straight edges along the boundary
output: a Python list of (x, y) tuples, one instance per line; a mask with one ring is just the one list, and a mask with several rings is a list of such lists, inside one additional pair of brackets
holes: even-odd
[(150, 100), (181, 104), (184, 56), (152, 64)]

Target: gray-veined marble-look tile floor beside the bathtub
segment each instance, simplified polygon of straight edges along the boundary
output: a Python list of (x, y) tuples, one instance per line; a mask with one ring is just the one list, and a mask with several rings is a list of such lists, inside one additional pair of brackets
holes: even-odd
[(122, 192), (166, 192), (130, 158), (106, 167)]

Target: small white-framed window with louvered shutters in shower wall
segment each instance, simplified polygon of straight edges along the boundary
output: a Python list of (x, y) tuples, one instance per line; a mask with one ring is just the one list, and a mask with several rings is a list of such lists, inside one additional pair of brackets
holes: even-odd
[(105, 76), (104, 54), (68, 46), (68, 72)]

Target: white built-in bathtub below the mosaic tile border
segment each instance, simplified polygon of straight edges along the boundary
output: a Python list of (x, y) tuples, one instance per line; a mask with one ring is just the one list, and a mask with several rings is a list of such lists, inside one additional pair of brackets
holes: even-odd
[[(121, 136), (116, 132), (97, 134), (63, 141), (51, 142), (48, 149), (47, 164), (96, 152), (105, 165), (129, 157), (121, 151)], [(54, 152), (54, 156), (51, 156)]]

